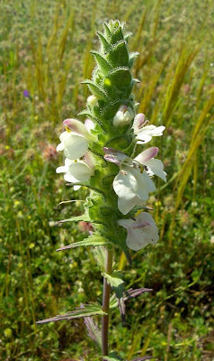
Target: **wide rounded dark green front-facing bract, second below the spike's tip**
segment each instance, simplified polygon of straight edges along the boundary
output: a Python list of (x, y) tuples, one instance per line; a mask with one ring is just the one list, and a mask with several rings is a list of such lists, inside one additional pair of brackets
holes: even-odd
[(117, 88), (129, 87), (131, 82), (131, 74), (129, 68), (120, 67), (113, 69), (104, 79), (105, 87), (116, 86)]

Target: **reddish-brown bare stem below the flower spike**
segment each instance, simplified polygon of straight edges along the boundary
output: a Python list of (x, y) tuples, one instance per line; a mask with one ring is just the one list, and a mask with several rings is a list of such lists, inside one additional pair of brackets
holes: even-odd
[[(105, 273), (111, 274), (112, 271), (112, 260), (113, 260), (113, 249), (108, 248), (105, 249)], [(109, 353), (109, 304), (110, 304), (110, 293), (111, 286), (103, 278), (103, 311), (108, 313), (108, 315), (103, 316), (102, 319), (102, 351), (103, 356), (108, 356)]]

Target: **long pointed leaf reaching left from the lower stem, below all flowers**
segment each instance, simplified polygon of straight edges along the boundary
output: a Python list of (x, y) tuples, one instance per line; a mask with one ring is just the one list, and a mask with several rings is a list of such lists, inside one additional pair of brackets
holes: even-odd
[(50, 319), (41, 319), (37, 321), (37, 324), (48, 323), (48, 322), (56, 322), (63, 319), (80, 319), (83, 317), (100, 315), (104, 316), (107, 313), (103, 312), (102, 306), (98, 302), (91, 302), (83, 305), (82, 307), (77, 308), (76, 310), (72, 310), (71, 312), (67, 312), (64, 315), (58, 315), (55, 317), (51, 317)]

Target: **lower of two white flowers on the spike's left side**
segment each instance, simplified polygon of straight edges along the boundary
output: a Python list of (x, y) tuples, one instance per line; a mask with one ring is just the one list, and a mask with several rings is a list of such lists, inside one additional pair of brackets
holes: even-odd
[[(64, 179), (70, 183), (83, 183), (94, 174), (94, 157), (87, 152), (82, 160), (72, 161), (66, 158), (65, 165), (58, 167), (56, 172), (65, 173)], [(75, 185), (74, 190), (78, 190), (80, 187)]]

